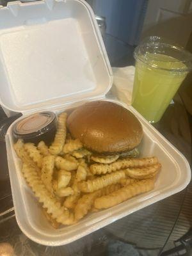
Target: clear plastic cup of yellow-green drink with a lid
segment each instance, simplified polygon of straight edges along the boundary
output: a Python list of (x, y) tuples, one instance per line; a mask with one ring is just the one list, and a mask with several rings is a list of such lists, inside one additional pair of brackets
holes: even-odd
[(164, 38), (150, 36), (134, 51), (132, 106), (149, 122), (161, 119), (192, 67), (192, 54)]

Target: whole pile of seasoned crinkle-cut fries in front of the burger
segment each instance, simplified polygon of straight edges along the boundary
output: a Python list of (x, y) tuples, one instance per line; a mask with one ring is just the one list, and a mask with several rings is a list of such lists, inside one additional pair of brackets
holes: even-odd
[(14, 148), (22, 173), (42, 204), (52, 227), (72, 225), (88, 212), (107, 209), (154, 188), (161, 169), (157, 157), (99, 157), (73, 140), (66, 128), (67, 113), (58, 116), (52, 145), (18, 140)]

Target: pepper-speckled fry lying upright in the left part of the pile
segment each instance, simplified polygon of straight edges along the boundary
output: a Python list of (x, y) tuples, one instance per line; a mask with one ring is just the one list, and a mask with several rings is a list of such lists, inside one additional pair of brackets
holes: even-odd
[(42, 161), (41, 179), (45, 188), (52, 193), (52, 173), (54, 170), (54, 156), (45, 156)]

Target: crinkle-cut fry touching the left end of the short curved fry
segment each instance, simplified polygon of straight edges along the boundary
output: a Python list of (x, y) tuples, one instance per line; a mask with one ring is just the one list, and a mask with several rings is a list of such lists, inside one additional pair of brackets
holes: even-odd
[(109, 186), (111, 184), (115, 184), (116, 182), (118, 182), (118, 180), (122, 178), (125, 178), (124, 171), (109, 173), (106, 175), (102, 175), (101, 177), (98, 177), (93, 180), (87, 180), (87, 181), (81, 182), (79, 184), (79, 189), (84, 193), (90, 193), (95, 190)]

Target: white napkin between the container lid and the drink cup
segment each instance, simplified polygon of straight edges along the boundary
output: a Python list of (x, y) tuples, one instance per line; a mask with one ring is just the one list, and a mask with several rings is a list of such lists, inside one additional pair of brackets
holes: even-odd
[(134, 66), (113, 69), (113, 93), (119, 100), (131, 105)]

